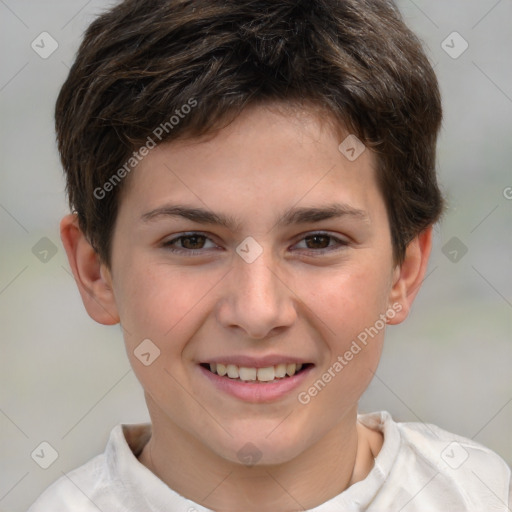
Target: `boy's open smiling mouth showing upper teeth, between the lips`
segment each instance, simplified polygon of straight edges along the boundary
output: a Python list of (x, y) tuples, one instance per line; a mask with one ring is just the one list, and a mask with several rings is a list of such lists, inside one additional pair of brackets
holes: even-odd
[(279, 363), (263, 368), (237, 366), (231, 363), (201, 363), (203, 368), (219, 377), (238, 382), (268, 384), (290, 379), (306, 372), (312, 363)]

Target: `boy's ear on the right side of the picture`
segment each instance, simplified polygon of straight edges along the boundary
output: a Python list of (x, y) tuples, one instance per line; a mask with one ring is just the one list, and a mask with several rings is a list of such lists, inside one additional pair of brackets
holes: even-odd
[(412, 303), (425, 279), (432, 249), (433, 227), (429, 226), (407, 246), (403, 263), (393, 272), (393, 287), (389, 296), (390, 308), (396, 314), (388, 324), (399, 324), (409, 315)]

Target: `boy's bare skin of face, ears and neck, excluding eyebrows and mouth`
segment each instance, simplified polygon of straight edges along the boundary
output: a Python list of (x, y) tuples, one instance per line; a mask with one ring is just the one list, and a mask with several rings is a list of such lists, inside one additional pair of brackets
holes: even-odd
[[(338, 150), (347, 135), (312, 110), (257, 106), (214, 137), (160, 145), (124, 184), (110, 268), (75, 216), (62, 220), (85, 307), (100, 323), (122, 323), (145, 390), (153, 434), (140, 462), (213, 510), (313, 508), (363, 480), (382, 446), (380, 433), (358, 423), (357, 404), (385, 329), (308, 404), (297, 398), (393, 304), (401, 311), (388, 325), (407, 317), (431, 248), (429, 228), (395, 265), (375, 155), (367, 149), (350, 162)], [(278, 224), (290, 208), (333, 203), (364, 215)], [(228, 215), (238, 225), (141, 219), (169, 204)], [(164, 246), (191, 231), (207, 238)], [(318, 232), (328, 237), (306, 238)], [(250, 264), (236, 253), (248, 236), (263, 249)], [(198, 255), (186, 254), (190, 248)], [(161, 353), (144, 366), (134, 350), (147, 338)], [(315, 366), (297, 390), (250, 403), (199, 371), (200, 362), (231, 354), (280, 354)], [(261, 453), (254, 466), (237, 456), (248, 442)]]

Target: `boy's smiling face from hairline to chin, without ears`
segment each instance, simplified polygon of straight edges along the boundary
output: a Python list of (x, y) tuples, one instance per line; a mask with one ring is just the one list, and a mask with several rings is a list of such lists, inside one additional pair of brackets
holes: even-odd
[(254, 107), (129, 177), (109, 279), (161, 428), (280, 463), (354, 420), (400, 306), (375, 158), (349, 161), (347, 135)]

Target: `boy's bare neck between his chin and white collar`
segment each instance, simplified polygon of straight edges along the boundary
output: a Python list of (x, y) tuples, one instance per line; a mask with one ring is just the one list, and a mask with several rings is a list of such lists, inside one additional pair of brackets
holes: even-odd
[(363, 480), (373, 467), (382, 437), (356, 415), (293, 460), (252, 467), (226, 460), (175, 424), (154, 421), (140, 462), (180, 495), (218, 512), (307, 510)]

